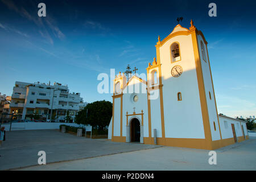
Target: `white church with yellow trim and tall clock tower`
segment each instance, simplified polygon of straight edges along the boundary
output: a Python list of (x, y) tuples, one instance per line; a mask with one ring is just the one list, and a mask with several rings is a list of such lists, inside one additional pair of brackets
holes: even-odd
[(109, 139), (205, 150), (248, 139), (245, 122), (217, 112), (207, 41), (192, 20), (155, 47), (146, 80), (115, 77)]

